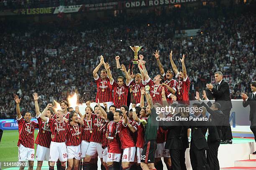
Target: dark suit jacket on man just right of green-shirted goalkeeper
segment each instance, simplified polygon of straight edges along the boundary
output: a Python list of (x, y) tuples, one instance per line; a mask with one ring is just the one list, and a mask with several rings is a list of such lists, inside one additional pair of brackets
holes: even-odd
[[(181, 114), (176, 114), (175, 117), (181, 117)], [(168, 124), (164, 124), (164, 130), (168, 130), (165, 149), (182, 150), (182, 124), (179, 121), (170, 121)]]

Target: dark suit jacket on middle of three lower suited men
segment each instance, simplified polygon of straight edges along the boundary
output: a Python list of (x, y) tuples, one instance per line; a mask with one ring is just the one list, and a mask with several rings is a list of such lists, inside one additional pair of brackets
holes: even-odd
[[(202, 117), (202, 115), (200, 116)], [(208, 149), (205, 133), (207, 131), (207, 122), (191, 122), (191, 149)]]

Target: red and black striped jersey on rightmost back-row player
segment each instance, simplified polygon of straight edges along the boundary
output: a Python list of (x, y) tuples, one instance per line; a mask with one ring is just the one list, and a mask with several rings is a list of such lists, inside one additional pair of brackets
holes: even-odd
[(189, 101), (189, 88), (190, 88), (190, 79), (187, 76), (187, 79), (178, 82), (177, 85), (177, 101)]

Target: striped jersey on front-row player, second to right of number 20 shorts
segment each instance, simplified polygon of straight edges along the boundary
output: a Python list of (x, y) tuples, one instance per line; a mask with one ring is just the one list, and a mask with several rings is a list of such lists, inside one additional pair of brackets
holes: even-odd
[(87, 120), (86, 117), (84, 118), (84, 125), (82, 131), (82, 140), (89, 141), (92, 132), (92, 120), (97, 117), (95, 114), (92, 114), (91, 119)]

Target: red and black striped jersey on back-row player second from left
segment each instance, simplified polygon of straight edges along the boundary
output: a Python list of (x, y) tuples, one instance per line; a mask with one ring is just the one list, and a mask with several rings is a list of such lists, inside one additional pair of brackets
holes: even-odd
[(127, 98), (128, 98), (130, 83), (129, 84), (124, 83), (123, 86), (121, 87), (118, 86), (118, 83), (116, 81), (114, 81), (113, 83), (113, 90), (114, 90), (113, 103), (115, 107), (117, 107), (118, 109), (120, 109), (122, 105), (127, 105)]

